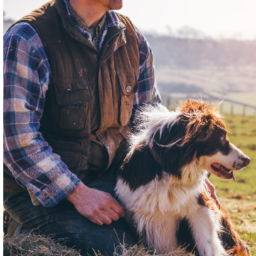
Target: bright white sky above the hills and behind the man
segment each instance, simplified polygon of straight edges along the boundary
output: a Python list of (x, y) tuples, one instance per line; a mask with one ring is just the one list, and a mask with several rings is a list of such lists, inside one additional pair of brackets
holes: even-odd
[[(213, 38), (256, 39), (255, 0), (123, 0), (121, 14), (144, 32), (168, 33), (183, 26)], [(4, 0), (5, 18), (17, 20), (46, 0)]]

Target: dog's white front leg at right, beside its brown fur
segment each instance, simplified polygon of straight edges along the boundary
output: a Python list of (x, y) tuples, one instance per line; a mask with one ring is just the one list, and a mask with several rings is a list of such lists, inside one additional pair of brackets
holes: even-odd
[(187, 218), (200, 256), (228, 255), (218, 238), (220, 223), (213, 210), (198, 206)]

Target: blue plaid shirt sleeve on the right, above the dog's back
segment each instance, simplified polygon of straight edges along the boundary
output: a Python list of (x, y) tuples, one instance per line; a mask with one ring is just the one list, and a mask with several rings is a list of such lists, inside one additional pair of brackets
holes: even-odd
[(138, 107), (145, 104), (154, 104), (161, 102), (161, 96), (157, 89), (153, 52), (149, 42), (143, 36), (142, 32), (135, 26), (139, 38), (139, 87), (134, 95), (134, 106), (131, 121), (134, 119), (134, 113)]

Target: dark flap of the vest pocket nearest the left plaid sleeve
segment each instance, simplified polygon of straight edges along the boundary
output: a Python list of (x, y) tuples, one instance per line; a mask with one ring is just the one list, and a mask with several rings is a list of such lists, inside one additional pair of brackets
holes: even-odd
[(93, 100), (92, 90), (87, 81), (58, 80), (54, 85), (59, 105), (72, 105)]

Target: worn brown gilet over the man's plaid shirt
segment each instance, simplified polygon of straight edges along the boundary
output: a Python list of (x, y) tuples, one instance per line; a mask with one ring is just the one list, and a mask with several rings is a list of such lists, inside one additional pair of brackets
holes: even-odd
[[(124, 154), (131, 132), (139, 42), (129, 18), (117, 16), (119, 28), (107, 29), (101, 53), (82, 36), (63, 0), (50, 1), (18, 21), (30, 23), (36, 30), (52, 71), (39, 131), (81, 179), (90, 176), (92, 138), (102, 145), (93, 150), (94, 159), (105, 159), (102, 155), (107, 154), (105, 168), (97, 173), (100, 175)], [(92, 131), (93, 115), (99, 117), (99, 123)], [(10, 183), (11, 176), (6, 177), (8, 191), (14, 193), (11, 187), (18, 191), (17, 184)]]

